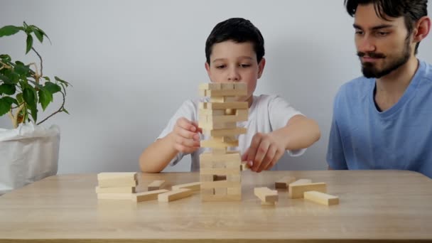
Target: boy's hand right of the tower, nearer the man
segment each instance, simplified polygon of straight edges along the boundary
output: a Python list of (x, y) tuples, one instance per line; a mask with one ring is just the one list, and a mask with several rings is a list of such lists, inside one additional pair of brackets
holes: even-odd
[(261, 172), (273, 167), (285, 153), (284, 144), (279, 142), (275, 134), (257, 133), (252, 138), (251, 146), (242, 156), (252, 171)]

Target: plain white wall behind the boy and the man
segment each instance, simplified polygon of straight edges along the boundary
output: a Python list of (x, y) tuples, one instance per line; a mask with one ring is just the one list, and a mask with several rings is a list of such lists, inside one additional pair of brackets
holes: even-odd
[[(45, 123), (62, 130), (59, 173), (138, 171), (143, 148), (207, 82), (205, 40), (231, 17), (251, 20), (264, 35), (267, 62), (257, 94), (278, 93), (320, 124), (320, 141), (301, 157), (284, 158), (279, 169), (318, 170), (326, 168), (333, 97), (361, 75), (342, 2), (0, 0), (0, 26), (26, 21), (42, 28), (53, 42), (36, 44), (45, 75), (73, 85), (70, 115)], [(33, 60), (23, 57), (24, 46), (22, 34), (0, 39), (0, 53)], [(432, 36), (419, 51), (432, 62)], [(6, 117), (0, 127), (11, 128)], [(169, 171), (189, 166), (188, 156)]]

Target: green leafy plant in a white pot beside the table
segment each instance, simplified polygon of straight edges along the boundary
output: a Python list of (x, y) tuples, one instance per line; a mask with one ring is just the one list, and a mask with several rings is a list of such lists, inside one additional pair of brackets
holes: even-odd
[[(0, 129), (0, 193), (57, 173), (60, 130), (40, 124), (60, 112), (68, 113), (65, 96), (69, 83), (57, 76), (44, 76), (42, 56), (33, 47), (35, 38), (41, 43), (50, 39), (41, 28), (26, 22), (0, 28), (0, 38), (16, 33), (25, 33), (26, 54), (32, 51), (38, 62), (24, 64), (0, 55), (0, 117), (8, 116), (13, 126)], [(60, 107), (40, 120), (41, 109), (45, 111), (58, 95), (63, 97)]]

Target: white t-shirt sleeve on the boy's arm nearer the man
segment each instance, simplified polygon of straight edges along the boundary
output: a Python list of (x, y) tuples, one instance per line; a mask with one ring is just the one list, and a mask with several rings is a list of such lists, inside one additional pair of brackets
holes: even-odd
[[(301, 114), (298, 110), (291, 107), (291, 104), (286, 102), (286, 100), (278, 95), (271, 97), (269, 102), (269, 117), (271, 130), (281, 129), (288, 124), (289, 119)], [(301, 114), (303, 115), (303, 114)], [(306, 148), (287, 151), (290, 156), (301, 156), (305, 153)]]

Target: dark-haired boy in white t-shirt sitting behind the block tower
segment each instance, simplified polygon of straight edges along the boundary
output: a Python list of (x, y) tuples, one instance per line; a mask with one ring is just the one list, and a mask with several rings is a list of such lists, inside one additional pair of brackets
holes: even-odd
[[(247, 96), (239, 101), (249, 103), (248, 121), (237, 126), (247, 128), (239, 135), (242, 161), (252, 171), (261, 172), (274, 166), (285, 151), (291, 156), (301, 155), (308, 146), (320, 138), (315, 121), (293, 109), (284, 99), (274, 95), (254, 96), (257, 80), (266, 63), (264, 38), (250, 21), (229, 18), (213, 28), (205, 43), (205, 69), (211, 82), (245, 82)], [(197, 85), (198, 86), (198, 85)], [(188, 100), (168, 122), (158, 139), (141, 154), (141, 171), (156, 173), (168, 163), (175, 165), (185, 154), (192, 156), (191, 171), (198, 171), (203, 139), (198, 126), (198, 104), (209, 98)]]

